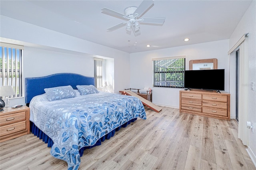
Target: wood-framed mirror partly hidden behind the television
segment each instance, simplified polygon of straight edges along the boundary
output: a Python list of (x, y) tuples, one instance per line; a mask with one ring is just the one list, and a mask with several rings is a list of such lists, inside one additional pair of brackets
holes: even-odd
[(218, 69), (218, 59), (193, 59), (189, 61), (190, 70)]

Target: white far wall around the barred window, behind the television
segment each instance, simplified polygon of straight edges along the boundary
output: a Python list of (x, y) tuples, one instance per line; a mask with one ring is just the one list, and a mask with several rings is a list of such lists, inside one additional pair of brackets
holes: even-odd
[(218, 69), (225, 69), (225, 91), (229, 92), (229, 60), (228, 40), (184, 45), (180, 47), (159, 49), (130, 54), (131, 77), (130, 87), (152, 88), (152, 102), (157, 105), (179, 108), (180, 89), (152, 87), (153, 85), (153, 58), (186, 56), (186, 70), (189, 69), (189, 61), (192, 59), (218, 59)]

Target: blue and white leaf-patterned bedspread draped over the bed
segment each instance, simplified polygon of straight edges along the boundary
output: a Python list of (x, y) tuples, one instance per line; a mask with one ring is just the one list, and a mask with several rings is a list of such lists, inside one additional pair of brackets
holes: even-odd
[(146, 119), (142, 102), (133, 96), (93, 93), (48, 101), (46, 94), (30, 102), (30, 121), (52, 138), (52, 156), (78, 169), (79, 149), (92, 146), (102, 136), (134, 118)]

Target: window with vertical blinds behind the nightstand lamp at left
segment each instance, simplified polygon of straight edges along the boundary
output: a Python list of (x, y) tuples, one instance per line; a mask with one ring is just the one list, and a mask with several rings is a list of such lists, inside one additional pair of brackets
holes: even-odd
[(0, 43), (0, 86), (11, 85), (15, 95), (12, 97), (22, 97), (22, 51), (23, 46)]

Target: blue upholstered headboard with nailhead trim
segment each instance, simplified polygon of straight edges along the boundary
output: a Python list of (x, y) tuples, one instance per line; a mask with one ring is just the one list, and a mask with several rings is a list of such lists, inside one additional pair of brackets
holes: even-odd
[(94, 85), (94, 77), (86, 77), (76, 73), (57, 73), (44, 77), (28, 77), (25, 80), (25, 102), (27, 104), (34, 96), (44, 94), (45, 88), (71, 85), (73, 89), (77, 89), (76, 85)]

